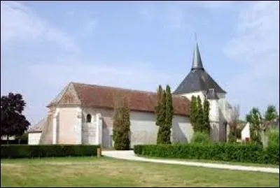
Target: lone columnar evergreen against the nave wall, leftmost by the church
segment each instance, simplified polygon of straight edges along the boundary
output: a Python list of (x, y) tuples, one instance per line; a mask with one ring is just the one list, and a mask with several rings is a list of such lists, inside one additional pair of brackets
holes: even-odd
[(130, 150), (130, 108), (127, 99), (117, 99), (113, 116), (113, 140), (116, 150)]

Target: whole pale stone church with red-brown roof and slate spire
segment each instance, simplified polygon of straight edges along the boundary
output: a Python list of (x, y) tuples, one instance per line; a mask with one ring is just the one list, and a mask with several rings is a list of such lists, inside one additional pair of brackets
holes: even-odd
[[(158, 85), (155, 85), (157, 88)], [(188, 143), (193, 136), (190, 124), (191, 97), (200, 96), (210, 103), (211, 139), (227, 139), (232, 107), (223, 90), (204, 70), (198, 44), (193, 64), (186, 78), (173, 92), (174, 116), (172, 143)], [(156, 92), (123, 89), (70, 82), (48, 104), (48, 115), (28, 130), (29, 145), (85, 144), (113, 147), (113, 112), (115, 97), (125, 96), (130, 103), (130, 143), (155, 144), (158, 134), (155, 105)]]

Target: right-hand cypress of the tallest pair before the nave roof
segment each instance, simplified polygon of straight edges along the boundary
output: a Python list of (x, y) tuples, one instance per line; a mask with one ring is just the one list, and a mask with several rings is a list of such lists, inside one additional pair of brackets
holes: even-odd
[(172, 105), (172, 93), (169, 85), (166, 87), (166, 115), (165, 115), (165, 127), (167, 131), (166, 143), (171, 143), (171, 129), (172, 129), (172, 119), (173, 119), (173, 105)]

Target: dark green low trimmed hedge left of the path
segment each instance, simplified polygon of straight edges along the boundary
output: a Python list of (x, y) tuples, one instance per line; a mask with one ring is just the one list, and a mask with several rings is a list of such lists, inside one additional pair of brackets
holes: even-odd
[(99, 145), (1, 145), (1, 158), (96, 156)]

